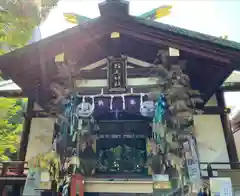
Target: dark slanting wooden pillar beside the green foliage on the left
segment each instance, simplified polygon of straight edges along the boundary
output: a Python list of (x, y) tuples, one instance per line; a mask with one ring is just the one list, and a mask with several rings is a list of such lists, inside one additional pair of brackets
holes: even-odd
[(20, 161), (25, 161), (26, 154), (27, 154), (28, 138), (29, 138), (31, 124), (32, 124), (33, 106), (34, 106), (34, 101), (32, 99), (28, 99), (27, 111), (24, 115), (23, 132), (22, 132), (22, 137), (20, 141), (20, 149), (19, 149)]

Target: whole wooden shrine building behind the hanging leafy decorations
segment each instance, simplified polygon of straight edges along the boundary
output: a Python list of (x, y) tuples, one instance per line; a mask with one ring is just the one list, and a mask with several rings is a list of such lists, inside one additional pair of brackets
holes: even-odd
[(202, 176), (208, 177), (209, 163), (213, 175), (218, 169), (238, 169), (230, 109), (223, 93), (239, 86), (231, 74), (240, 70), (240, 44), (131, 16), (127, 2), (103, 2), (99, 10), (101, 16), (96, 19), (0, 57), (5, 79), (14, 82), (9, 84), (11, 90), (0, 87), (0, 95), (28, 98), (19, 160), (28, 161), (52, 146), (56, 113), (50, 104), (55, 98), (50, 86), (66, 80), (55, 77), (63, 63), (69, 69), (75, 66), (78, 104), (87, 102), (87, 109), (78, 107), (81, 114), (94, 113), (102, 123), (97, 148), (112, 148), (124, 131), (138, 135), (134, 145), (141, 146), (149, 134), (146, 122), (151, 121), (146, 117), (146, 95), (157, 81), (150, 68), (159, 51), (168, 51), (171, 64), (186, 63), (191, 87), (204, 100), (199, 106), (204, 113), (194, 116)]

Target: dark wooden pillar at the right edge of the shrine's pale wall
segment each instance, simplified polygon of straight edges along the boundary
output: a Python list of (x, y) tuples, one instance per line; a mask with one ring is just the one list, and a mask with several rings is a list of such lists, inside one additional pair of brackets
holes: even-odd
[[(221, 108), (225, 108), (225, 101), (224, 101), (224, 94), (222, 90), (218, 90), (216, 92), (216, 98), (218, 102), (218, 106)], [(220, 114), (222, 127), (223, 127), (223, 133), (226, 141), (227, 151), (229, 160), (231, 162), (231, 168), (237, 169), (239, 168), (238, 163), (238, 154), (237, 154), (237, 148), (234, 140), (234, 135), (232, 133), (231, 125), (228, 119), (228, 114), (226, 112), (223, 112)]]

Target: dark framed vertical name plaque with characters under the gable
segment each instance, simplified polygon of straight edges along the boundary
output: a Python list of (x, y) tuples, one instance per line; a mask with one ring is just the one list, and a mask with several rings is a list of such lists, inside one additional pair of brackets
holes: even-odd
[(108, 57), (108, 88), (110, 92), (125, 92), (127, 88), (127, 58)]

